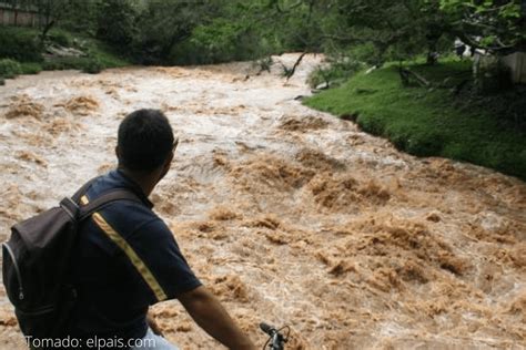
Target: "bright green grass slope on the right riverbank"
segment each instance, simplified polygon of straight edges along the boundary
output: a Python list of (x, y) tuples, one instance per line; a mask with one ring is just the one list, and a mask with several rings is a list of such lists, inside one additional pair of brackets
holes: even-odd
[[(453, 85), (469, 78), (471, 65), (414, 64), (411, 70), (434, 83)], [(403, 87), (392, 64), (371, 74), (360, 73), (343, 86), (304, 103), (335, 115), (354, 115), (362, 130), (387, 137), (407, 153), (469, 162), (526, 179), (524, 128), (457, 99), (448, 89)]]

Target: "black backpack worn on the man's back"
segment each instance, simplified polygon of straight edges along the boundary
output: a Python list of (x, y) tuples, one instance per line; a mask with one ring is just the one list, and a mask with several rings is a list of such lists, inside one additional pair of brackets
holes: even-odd
[(95, 179), (73, 197), (62, 199), (59, 207), (12, 226), (10, 239), (2, 244), (3, 285), (26, 337), (52, 339), (64, 334), (77, 297), (67, 272), (79, 224), (112, 202), (140, 202), (121, 188), (79, 206), (80, 197)]

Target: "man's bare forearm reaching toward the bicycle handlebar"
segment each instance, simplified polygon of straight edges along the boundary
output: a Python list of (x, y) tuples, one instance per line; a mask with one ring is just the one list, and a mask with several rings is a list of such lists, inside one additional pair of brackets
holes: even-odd
[(229, 349), (255, 349), (221, 302), (203, 286), (178, 296), (194, 321)]

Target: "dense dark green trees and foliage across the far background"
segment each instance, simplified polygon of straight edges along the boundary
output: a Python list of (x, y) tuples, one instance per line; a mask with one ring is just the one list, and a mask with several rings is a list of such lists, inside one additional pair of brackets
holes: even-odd
[[(492, 52), (526, 48), (519, 0), (9, 2), (37, 10), (44, 19), (40, 44), (60, 28), (100, 40), (135, 63), (213, 63), (284, 51), (323, 51), (338, 61), (352, 58), (373, 64), (425, 53), (433, 63), (435, 53), (451, 50), (455, 38)], [(17, 48), (0, 56), (36, 59), (27, 56), (38, 54), (33, 49)]]

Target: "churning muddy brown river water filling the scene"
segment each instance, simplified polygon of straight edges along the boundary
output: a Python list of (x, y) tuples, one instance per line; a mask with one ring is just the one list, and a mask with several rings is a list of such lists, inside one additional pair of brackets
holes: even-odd
[[(127, 113), (161, 109), (180, 146), (155, 210), (259, 344), (264, 320), (291, 326), (291, 349), (524, 348), (525, 183), (415, 158), (303, 106), (320, 60), (289, 82), (250, 63), (8, 81), (0, 238), (114, 167)], [(23, 349), (0, 292), (0, 349)], [(220, 348), (178, 301), (153, 313), (182, 349)]]

